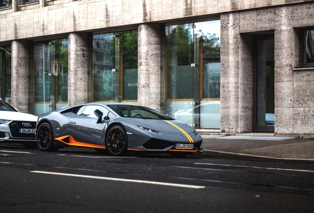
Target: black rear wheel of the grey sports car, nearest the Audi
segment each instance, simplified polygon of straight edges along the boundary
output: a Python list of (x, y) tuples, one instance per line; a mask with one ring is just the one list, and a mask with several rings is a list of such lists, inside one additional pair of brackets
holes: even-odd
[(36, 133), (36, 141), (42, 151), (57, 151), (59, 149), (53, 144), (53, 130), (49, 123), (40, 124)]

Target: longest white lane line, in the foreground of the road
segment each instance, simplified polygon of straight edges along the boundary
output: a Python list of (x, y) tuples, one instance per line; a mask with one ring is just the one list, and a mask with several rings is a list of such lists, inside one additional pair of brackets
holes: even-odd
[(147, 181), (147, 180), (107, 178), (107, 177), (74, 175), (74, 174), (42, 172), (42, 171), (30, 171), (30, 172), (31, 173), (49, 174), (49, 175), (71, 176), (71, 177), (79, 177), (79, 178), (94, 178), (94, 179), (116, 180), (116, 181), (124, 181), (124, 182), (149, 183), (149, 184), (156, 184), (156, 185), (177, 186), (177, 187), (185, 187), (185, 188), (196, 188), (196, 189), (205, 188), (205, 186), (185, 185), (185, 184), (165, 183), (165, 182), (155, 182), (155, 181)]

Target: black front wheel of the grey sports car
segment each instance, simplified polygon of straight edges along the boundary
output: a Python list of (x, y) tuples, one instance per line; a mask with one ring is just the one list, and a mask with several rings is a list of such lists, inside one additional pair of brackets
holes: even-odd
[(113, 156), (121, 156), (126, 153), (127, 137), (123, 127), (116, 125), (110, 128), (106, 139), (106, 149)]

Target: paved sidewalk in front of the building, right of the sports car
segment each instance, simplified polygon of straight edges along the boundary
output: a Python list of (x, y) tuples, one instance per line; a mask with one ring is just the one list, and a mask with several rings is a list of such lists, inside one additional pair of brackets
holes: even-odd
[(201, 135), (202, 157), (314, 163), (314, 139)]

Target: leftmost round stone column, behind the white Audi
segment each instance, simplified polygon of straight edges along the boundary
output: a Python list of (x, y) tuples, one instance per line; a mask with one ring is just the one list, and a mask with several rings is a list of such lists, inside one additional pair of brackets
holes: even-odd
[(29, 42), (13, 40), (11, 51), (11, 104), (29, 112)]

